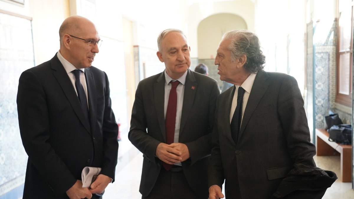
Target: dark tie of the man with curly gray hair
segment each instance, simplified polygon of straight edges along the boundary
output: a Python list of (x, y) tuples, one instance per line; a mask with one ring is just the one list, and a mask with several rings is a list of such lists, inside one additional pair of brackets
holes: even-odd
[(232, 120), (230, 124), (231, 136), (232, 139), (235, 141), (235, 143), (237, 143), (238, 134), (240, 132), (241, 119), (242, 119), (242, 101), (243, 101), (244, 93), (245, 93), (245, 89), (243, 89), (240, 86), (237, 92), (237, 106), (234, 115), (232, 116)]

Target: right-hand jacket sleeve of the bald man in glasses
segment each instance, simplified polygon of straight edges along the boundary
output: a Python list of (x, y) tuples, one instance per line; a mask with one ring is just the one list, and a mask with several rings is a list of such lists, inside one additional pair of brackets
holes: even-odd
[(104, 96), (104, 113), (103, 113), (103, 162), (101, 174), (113, 178), (115, 176), (115, 166), (118, 160), (118, 124), (112, 110), (112, 101), (110, 99), (110, 89), (107, 74), (105, 74), (105, 96)]

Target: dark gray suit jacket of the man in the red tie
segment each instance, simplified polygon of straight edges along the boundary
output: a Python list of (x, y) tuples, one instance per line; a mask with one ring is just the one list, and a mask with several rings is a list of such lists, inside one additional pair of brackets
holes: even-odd
[[(159, 143), (166, 143), (164, 118), (165, 74), (142, 80), (136, 90), (129, 140), (143, 153), (140, 193), (150, 193), (162, 161), (155, 156)], [(185, 80), (179, 142), (187, 145), (190, 159), (182, 162), (190, 187), (201, 198), (208, 197), (207, 164), (211, 150), (217, 81), (188, 69)]]

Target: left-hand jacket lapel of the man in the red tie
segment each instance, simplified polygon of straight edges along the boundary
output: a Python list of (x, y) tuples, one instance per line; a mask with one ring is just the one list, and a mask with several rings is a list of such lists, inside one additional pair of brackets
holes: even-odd
[(166, 127), (165, 127), (165, 73), (162, 72), (156, 83), (154, 84), (154, 103), (159, 121), (160, 130), (166, 142)]

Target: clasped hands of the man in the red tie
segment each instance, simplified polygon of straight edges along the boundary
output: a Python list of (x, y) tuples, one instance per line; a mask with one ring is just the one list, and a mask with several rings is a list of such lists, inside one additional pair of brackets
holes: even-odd
[(183, 143), (160, 143), (156, 148), (156, 156), (167, 164), (175, 164), (187, 160), (189, 150)]

